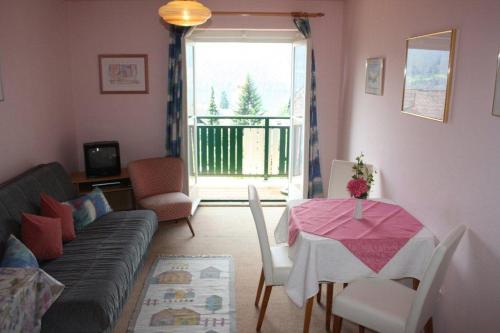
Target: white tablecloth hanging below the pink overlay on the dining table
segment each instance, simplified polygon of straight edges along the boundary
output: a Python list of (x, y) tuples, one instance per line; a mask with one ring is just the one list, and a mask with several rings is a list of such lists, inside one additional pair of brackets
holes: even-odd
[[(305, 201), (288, 203), (274, 232), (276, 243), (288, 242), (288, 211)], [(308, 298), (318, 292), (320, 281), (350, 282), (361, 277), (411, 277), (420, 280), (435, 244), (433, 234), (423, 227), (377, 274), (341, 242), (300, 232), (289, 250), (293, 268), (286, 284), (286, 292), (295, 304), (303, 306)]]

